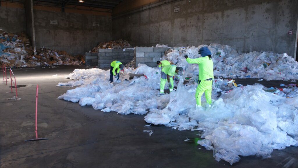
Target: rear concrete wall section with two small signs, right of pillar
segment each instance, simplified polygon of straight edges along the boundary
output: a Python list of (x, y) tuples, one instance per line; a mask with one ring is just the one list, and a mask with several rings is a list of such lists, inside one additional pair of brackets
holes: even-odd
[[(58, 25), (51, 25), (57, 20)], [(84, 54), (99, 42), (112, 39), (111, 16), (34, 10), (36, 47)], [(99, 22), (99, 26), (93, 26)]]

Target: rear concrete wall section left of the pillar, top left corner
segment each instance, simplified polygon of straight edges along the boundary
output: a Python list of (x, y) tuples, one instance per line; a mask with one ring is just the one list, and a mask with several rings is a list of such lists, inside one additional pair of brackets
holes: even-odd
[(24, 4), (0, 2), (0, 29), (10, 33), (26, 32)]

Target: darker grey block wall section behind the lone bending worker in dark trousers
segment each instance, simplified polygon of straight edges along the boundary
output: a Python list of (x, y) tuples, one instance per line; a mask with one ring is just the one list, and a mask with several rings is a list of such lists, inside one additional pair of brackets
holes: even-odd
[(110, 68), (114, 60), (125, 65), (134, 59), (134, 49), (99, 49), (97, 58), (98, 68)]

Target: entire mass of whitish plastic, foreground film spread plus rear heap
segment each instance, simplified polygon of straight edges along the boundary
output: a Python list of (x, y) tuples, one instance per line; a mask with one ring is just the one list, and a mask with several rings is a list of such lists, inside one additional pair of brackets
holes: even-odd
[[(74, 87), (59, 96), (81, 106), (91, 105), (103, 112), (144, 114), (145, 121), (178, 130), (199, 131), (198, 144), (213, 150), (216, 161), (231, 165), (240, 156), (271, 157), (273, 149), (298, 145), (298, 89), (297, 87), (266, 88), (260, 84), (243, 86), (236, 81), (213, 80), (212, 106), (196, 109), (195, 90), (198, 65), (188, 64), (183, 57), (199, 57), (198, 48), (180, 47), (160, 60), (167, 59), (184, 68), (176, 76), (177, 90), (159, 96), (160, 70), (139, 64), (136, 69), (120, 71), (120, 80), (110, 83), (110, 71), (75, 69), (66, 78), (72, 81), (58, 86)], [(239, 55), (227, 45), (211, 44), (214, 74), (231, 78), (264, 78), (266, 80), (294, 80), (298, 63), (287, 54), (251, 52)], [(263, 65), (263, 64), (266, 64)], [(129, 80), (129, 73), (143, 74)], [(165, 89), (168, 89), (167, 85)], [(279, 90), (279, 91), (277, 91)], [(287, 98), (291, 97), (291, 98)], [(206, 103), (202, 96), (202, 104)]]

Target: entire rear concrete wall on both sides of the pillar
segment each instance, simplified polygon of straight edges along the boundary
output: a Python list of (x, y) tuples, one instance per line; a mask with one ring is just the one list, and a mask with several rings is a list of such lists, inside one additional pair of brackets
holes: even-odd
[[(77, 55), (88, 52), (99, 42), (112, 39), (112, 18), (107, 9), (74, 9), (33, 6), (36, 48), (51, 48)], [(89, 10), (89, 11), (88, 11)], [(58, 25), (51, 25), (57, 20)], [(98, 22), (99, 26), (93, 26)], [(1, 2), (0, 28), (10, 33), (27, 32), (24, 4)]]

